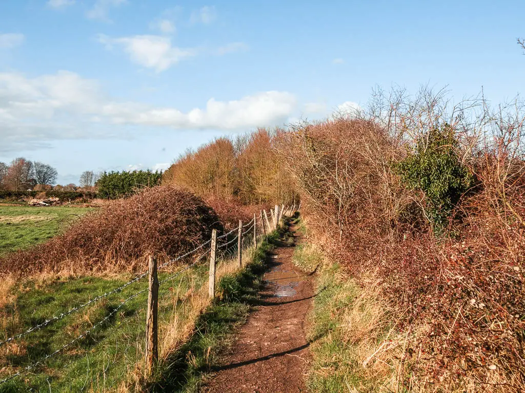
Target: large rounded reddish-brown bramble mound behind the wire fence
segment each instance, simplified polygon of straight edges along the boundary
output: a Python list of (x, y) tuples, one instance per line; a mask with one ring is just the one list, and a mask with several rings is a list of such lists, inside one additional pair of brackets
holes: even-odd
[(2, 274), (142, 271), (149, 255), (176, 257), (207, 241), (219, 217), (201, 198), (170, 186), (104, 205), (64, 234), (0, 259)]

